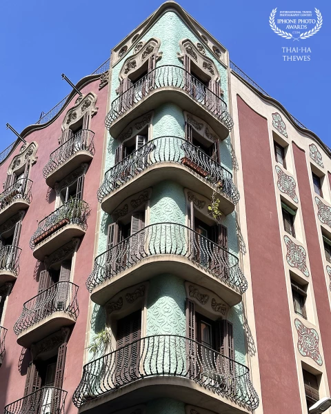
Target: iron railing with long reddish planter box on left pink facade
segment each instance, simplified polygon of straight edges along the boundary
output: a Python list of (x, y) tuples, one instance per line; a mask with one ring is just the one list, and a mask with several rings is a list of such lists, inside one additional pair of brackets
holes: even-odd
[(37, 244), (67, 224), (78, 224), (83, 230), (86, 230), (89, 213), (90, 206), (86, 201), (81, 199), (68, 200), (63, 206), (39, 221), (38, 228), (30, 239), (30, 248), (34, 249)]

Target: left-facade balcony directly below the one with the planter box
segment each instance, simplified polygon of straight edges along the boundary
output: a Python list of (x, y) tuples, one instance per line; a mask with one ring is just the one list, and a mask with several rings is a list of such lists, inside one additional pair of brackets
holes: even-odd
[(32, 342), (74, 324), (79, 315), (77, 291), (78, 286), (71, 282), (58, 282), (23, 304), (14, 324), (17, 343), (30, 348)]

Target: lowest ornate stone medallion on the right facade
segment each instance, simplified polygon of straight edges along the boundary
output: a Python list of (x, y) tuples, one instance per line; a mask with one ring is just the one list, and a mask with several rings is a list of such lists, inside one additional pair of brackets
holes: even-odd
[(317, 365), (323, 365), (319, 352), (319, 334), (313, 328), (307, 328), (299, 319), (294, 320), (298, 333), (298, 350), (303, 357), (310, 357)]

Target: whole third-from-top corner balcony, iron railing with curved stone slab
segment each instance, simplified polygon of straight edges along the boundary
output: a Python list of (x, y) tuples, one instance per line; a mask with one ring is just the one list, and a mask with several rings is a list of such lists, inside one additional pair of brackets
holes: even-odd
[(247, 281), (237, 257), (181, 224), (151, 224), (94, 260), (86, 286), (93, 302), (104, 305), (117, 292), (157, 273), (171, 273), (200, 284), (229, 306), (241, 302)]

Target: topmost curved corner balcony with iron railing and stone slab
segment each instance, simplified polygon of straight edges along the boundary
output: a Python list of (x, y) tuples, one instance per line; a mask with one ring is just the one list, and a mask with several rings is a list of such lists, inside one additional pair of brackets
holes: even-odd
[(133, 119), (165, 102), (205, 120), (221, 139), (232, 130), (232, 117), (223, 99), (179, 66), (159, 66), (112, 101), (106, 128), (117, 137)]

